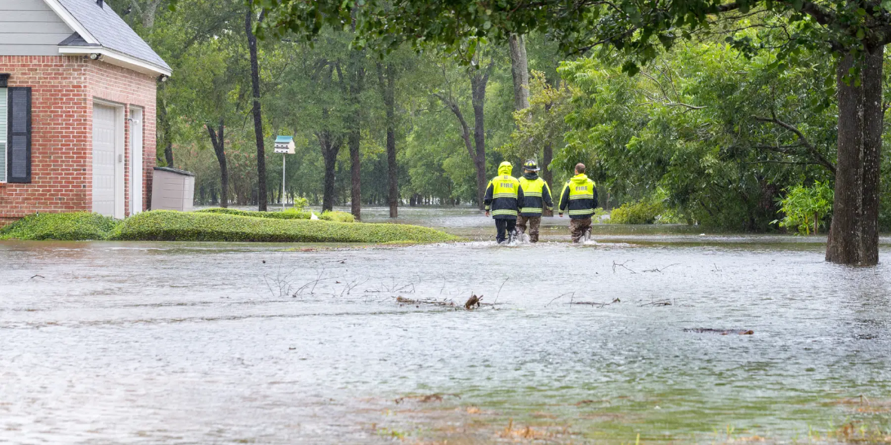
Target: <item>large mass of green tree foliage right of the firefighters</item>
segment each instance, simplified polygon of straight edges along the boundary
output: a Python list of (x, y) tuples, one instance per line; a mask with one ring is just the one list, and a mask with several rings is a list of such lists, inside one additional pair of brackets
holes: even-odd
[(767, 230), (783, 188), (831, 181), (838, 109), (822, 54), (801, 51), (781, 68), (769, 51), (747, 59), (726, 44), (689, 44), (636, 77), (611, 57), (560, 69), (573, 97), (558, 169), (584, 162), (620, 201), (660, 194), (683, 215), (673, 220), (738, 231)]

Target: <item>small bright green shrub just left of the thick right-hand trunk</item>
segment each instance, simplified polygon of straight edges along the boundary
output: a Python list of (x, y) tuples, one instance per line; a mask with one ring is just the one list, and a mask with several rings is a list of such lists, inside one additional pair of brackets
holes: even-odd
[(813, 187), (798, 184), (787, 191), (786, 197), (780, 199), (785, 216), (773, 223), (799, 235), (810, 235), (812, 229), (813, 233), (819, 232), (823, 217), (832, 211), (834, 194), (829, 184), (815, 182)]

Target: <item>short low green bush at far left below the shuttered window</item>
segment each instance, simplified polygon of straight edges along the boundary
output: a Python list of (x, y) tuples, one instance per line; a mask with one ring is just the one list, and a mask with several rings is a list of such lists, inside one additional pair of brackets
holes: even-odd
[(0, 239), (107, 239), (119, 223), (108, 216), (86, 212), (29, 214), (0, 230)]

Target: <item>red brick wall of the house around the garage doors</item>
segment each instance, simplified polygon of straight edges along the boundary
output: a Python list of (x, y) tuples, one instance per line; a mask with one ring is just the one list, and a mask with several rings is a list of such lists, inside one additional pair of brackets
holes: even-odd
[[(82, 56), (0, 56), (9, 86), (31, 87), (31, 183), (0, 182), (0, 225), (35, 212), (92, 210), (94, 100), (143, 108), (143, 209), (155, 166), (155, 78)], [(130, 121), (125, 119), (125, 213)]]

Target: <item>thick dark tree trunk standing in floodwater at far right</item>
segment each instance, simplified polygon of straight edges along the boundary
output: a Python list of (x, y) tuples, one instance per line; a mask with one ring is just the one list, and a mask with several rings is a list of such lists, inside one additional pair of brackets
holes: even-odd
[(838, 163), (826, 260), (871, 266), (879, 263), (879, 154), (883, 125), (884, 47), (863, 53), (861, 85), (844, 77), (855, 60), (838, 62)]

